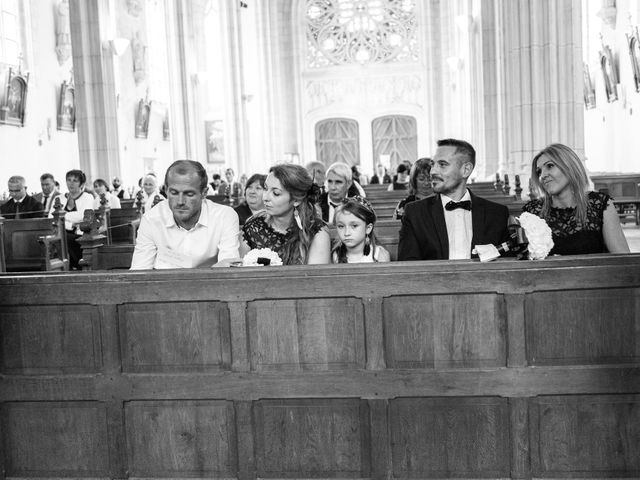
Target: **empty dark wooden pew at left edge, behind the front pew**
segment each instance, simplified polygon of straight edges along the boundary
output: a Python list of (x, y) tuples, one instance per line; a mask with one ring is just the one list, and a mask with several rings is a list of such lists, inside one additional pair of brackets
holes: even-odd
[(64, 215), (56, 218), (4, 219), (2, 271), (69, 270)]

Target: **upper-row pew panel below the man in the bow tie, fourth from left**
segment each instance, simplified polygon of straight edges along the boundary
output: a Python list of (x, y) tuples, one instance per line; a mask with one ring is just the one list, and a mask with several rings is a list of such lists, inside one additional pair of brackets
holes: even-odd
[(504, 305), (496, 295), (388, 298), (384, 325), (391, 368), (506, 365)]

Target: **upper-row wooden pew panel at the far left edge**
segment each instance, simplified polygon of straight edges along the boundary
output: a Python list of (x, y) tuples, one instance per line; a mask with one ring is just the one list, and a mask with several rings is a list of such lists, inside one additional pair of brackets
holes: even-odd
[(102, 365), (96, 307), (3, 308), (0, 339), (3, 373), (90, 373)]

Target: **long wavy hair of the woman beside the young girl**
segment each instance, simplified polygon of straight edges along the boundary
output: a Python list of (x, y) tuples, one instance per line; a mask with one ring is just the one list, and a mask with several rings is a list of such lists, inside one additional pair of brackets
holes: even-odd
[(283, 247), (282, 263), (284, 265), (306, 264), (309, 248), (314, 235), (322, 227), (322, 219), (318, 216), (315, 203), (320, 195), (320, 187), (313, 183), (307, 170), (294, 164), (274, 165), (269, 169), (282, 187), (299, 205), (296, 207), (302, 228), (292, 219), (289, 230), (291, 235)]

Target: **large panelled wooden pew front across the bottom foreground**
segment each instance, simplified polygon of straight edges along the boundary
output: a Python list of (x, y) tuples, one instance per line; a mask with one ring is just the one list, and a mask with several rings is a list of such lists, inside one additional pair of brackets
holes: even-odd
[(640, 476), (640, 255), (0, 291), (7, 478)]

